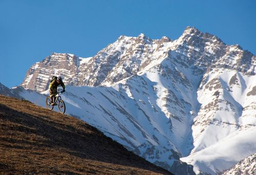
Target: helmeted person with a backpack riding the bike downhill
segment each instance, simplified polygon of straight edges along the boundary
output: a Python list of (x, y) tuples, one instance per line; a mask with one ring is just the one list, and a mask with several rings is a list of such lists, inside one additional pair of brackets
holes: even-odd
[(61, 77), (57, 77), (51, 83), (49, 84), (49, 96), (51, 97), (51, 105), (54, 105), (54, 97), (57, 95), (57, 88), (58, 86), (61, 85), (63, 88), (62, 92), (65, 92), (65, 84), (62, 82)]

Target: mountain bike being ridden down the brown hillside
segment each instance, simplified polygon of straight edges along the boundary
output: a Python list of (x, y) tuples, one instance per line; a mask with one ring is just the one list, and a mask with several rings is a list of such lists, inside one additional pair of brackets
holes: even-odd
[(49, 109), (49, 110), (53, 110), (53, 107), (55, 105), (58, 105), (58, 108), (59, 108), (59, 112), (61, 114), (64, 114), (65, 111), (66, 111), (66, 106), (65, 106), (65, 103), (63, 100), (61, 100), (61, 96), (59, 95), (60, 93), (62, 93), (63, 91), (60, 91), (60, 92), (57, 92), (57, 95), (54, 97), (54, 104), (52, 105), (51, 104), (51, 97), (47, 97), (46, 98), (46, 107)]

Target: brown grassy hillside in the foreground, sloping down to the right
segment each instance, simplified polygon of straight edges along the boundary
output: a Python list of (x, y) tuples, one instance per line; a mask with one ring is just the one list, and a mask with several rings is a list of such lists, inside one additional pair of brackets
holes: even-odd
[(99, 130), (0, 95), (0, 174), (170, 174)]

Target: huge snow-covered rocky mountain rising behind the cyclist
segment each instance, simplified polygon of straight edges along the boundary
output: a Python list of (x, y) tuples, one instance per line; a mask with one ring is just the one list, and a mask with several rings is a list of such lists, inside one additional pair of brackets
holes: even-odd
[(68, 114), (171, 172), (193, 173), (181, 159), (216, 174), (256, 152), (255, 67), (240, 46), (187, 27), (176, 40), (120, 36), (90, 58), (53, 53), (11, 92), (44, 106), (61, 75)]

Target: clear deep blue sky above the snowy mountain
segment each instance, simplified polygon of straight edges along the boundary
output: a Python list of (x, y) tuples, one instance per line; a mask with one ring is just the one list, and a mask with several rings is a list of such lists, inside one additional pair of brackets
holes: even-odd
[(187, 26), (256, 54), (254, 0), (0, 0), (0, 82), (53, 52), (91, 57), (120, 35), (177, 39)]

